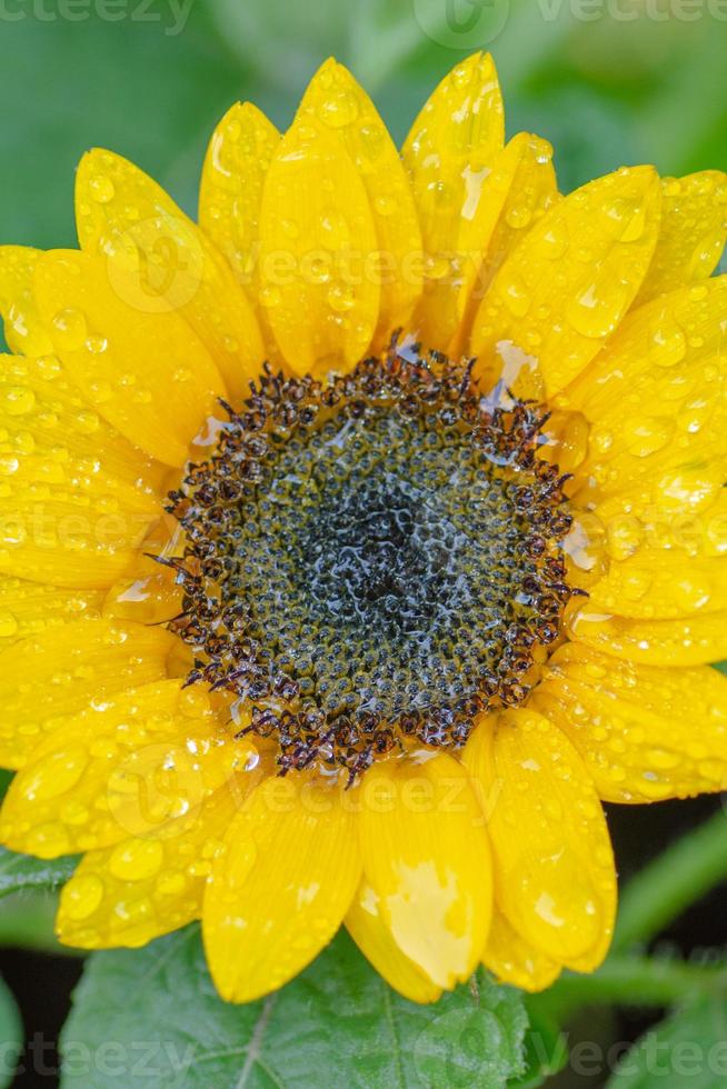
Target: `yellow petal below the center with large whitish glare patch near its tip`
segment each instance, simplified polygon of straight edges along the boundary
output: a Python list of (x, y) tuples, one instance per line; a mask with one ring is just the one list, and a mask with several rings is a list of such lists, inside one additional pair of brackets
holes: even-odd
[(360, 788), (366, 879), (401, 952), (444, 989), (481, 959), (492, 908), (485, 818), (462, 766), (389, 760)]

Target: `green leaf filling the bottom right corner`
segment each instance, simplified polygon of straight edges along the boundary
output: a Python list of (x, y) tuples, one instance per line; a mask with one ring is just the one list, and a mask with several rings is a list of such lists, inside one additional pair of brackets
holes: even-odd
[(608, 1089), (723, 1089), (727, 1083), (727, 986), (676, 1009), (621, 1060)]

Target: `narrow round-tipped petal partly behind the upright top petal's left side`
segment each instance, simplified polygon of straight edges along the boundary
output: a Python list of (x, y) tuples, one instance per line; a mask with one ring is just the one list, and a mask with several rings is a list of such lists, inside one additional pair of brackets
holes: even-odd
[(199, 192), (199, 222), (238, 282), (251, 289), (265, 176), (280, 133), (251, 102), (236, 102), (212, 133)]

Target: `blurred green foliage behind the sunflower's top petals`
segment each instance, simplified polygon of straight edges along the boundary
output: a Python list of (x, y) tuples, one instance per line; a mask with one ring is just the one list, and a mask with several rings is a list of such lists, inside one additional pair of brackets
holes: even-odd
[[(12, 11), (22, 18), (0, 14), (0, 238), (72, 243), (73, 168), (99, 144), (137, 161), (193, 210), (206, 141), (228, 106), (251, 98), (285, 126), (329, 53), (366, 83), (400, 140), (434, 83), (476, 44), (440, 43), (448, 4), (464, 18), (477, 2), (126, 0), (108, 21), (88, 0), (80, 10), (88, 18), (70, 22), (56, 0), (44, 0), (42, 19), (32, 0), (18, 0)], [(715, 18), (718, 6), (489, 6), (504, 26), (481, 43), (500, 69), (509, 129), (554, 141), (565, 190), (624, 162), (651, 161), (666, 173), (727, 167), (727, 22)]]

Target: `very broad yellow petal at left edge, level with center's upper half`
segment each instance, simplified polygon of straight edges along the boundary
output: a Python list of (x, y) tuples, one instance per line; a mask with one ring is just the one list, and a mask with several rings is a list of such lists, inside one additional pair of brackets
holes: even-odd
[(162, 513), (162, 467), (69, 388), (54, 357), (2, 363), (0, 571), (108, 587)]

